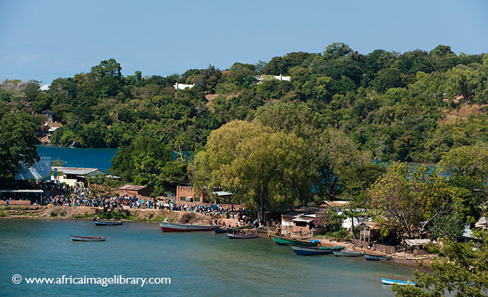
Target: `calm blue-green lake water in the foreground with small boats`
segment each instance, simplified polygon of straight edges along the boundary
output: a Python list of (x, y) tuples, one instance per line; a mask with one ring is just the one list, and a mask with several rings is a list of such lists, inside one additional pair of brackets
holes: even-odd
[[(106, 236), (73, 242), (69, 235)], [(269, 238), (162, 233), (157, 223), (0, 219), (0, 296), (394, 296), (380, 277), (412, 268), (364, 257), (297, 256)], [(13, 284), (12, 276), (23, 277)], [(25, 277), (165, 277), (171, 284), (26, 284)]]

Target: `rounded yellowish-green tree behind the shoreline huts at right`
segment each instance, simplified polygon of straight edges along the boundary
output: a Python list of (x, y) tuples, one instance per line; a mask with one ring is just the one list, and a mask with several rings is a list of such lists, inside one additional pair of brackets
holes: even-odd
[(438, 216), (451, 211), (453, 192), (436, 171), (428, 173), (426, 166), (410, 172), (405, 163), (393, 163), (368, 191), (375, 221), (384, 230), (404, 231), (409, 238)]

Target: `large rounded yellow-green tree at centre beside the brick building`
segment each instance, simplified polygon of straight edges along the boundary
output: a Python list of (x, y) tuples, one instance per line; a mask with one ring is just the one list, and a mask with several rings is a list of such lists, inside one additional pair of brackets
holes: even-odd
[(195, 187), (227, 188), (262, 220), (269, 207), (289, 207), (312, 190), (310, 165), (303, 139), (233, 121), (211, 132), (205, 151), (195, 156)]

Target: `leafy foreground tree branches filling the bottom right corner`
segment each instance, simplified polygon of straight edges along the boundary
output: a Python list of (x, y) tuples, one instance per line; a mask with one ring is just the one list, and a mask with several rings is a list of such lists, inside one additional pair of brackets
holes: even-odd
[(488, 233), (473, 233), (480, 243), (446, 240), (443, 248), (433, 247), (438, 258), (423, 267), (432, 272), (414, 272), (415, 286), (393, 285), (397, 297), (484, 297), (488, 289)]

